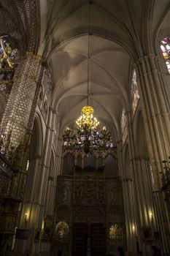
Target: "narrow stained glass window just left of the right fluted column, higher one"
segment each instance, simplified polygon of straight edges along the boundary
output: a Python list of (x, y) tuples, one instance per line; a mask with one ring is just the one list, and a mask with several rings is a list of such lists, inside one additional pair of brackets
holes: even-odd
[(138, 101), (139, 101), (139, 89), (136, 81), (136, 71), (134, 69), (132, 74), (132, 80), (131, 80), (131, 102), (132, 102), (133, 113), (135, 113)]

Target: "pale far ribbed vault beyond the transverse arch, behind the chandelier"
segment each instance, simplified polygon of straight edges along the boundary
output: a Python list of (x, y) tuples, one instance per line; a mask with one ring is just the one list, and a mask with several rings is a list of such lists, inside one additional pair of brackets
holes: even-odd
[[(117, 61), (113, 61), (117, 59)], [(90, 36), (89, 100), (100, 121), (112, 129), (125, 105), (130, 58), (108, 39)], [(87, 105), (88, 35), (61, 45), (51, 56), (53, 67), (53, 107), (61, 113), (61, 123), (70, 124)]]

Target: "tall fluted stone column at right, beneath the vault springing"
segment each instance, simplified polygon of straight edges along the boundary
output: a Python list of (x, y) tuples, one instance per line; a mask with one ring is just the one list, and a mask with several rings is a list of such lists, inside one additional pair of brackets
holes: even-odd
[(156, 56), (144, 56), (137, 64), (147, 146), (154, 176), (154, 189), (157, 190), (161, 186), (158, 175), (161, 162), (169, 157), (170, 152), (169, 105)]

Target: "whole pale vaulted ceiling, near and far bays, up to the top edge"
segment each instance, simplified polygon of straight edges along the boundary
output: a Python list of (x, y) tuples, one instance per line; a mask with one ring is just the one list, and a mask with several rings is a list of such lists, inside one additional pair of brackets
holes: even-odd
[(47, 27), (39, 52), (53, 73), (52, 105), (61, 131), (87, 104), (90, 31), (90, 105), (117, 137), (121, 110), (130, 110), (132, 64), (152, 53), (154, 42), (169, 29), (169, 0), (93, 0), (90, 26), (87, 0), (51, 0), (44, 8)]

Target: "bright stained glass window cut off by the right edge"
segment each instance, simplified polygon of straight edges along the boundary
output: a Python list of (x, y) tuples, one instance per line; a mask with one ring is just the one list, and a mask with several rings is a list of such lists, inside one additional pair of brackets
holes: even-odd
[(161, 50), (163, 58), (165, 59), (166, 62), (166, 67), (170, 74), (170, 35), (167, 37), (163, 37), (163, 39), (161, 40)]

